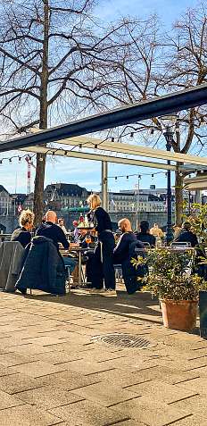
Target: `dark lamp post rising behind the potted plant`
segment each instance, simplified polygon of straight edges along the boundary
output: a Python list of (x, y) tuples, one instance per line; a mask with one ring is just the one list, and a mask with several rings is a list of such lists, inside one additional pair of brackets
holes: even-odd
[[(164, 132), (164, 137), (166, 139), (166, 149), (170, 152), (172, 142), (173, 142), (173, 131), (170, 126), (167, 126)], [(168, 165), (170, 165), (170, 160), (168, 160)], [(171, 171), (167, 171), (167, 229), (166, 229), (166, 242), (170, 243), (173, 239), (172, 231), (172, 193), (171, 193)]]

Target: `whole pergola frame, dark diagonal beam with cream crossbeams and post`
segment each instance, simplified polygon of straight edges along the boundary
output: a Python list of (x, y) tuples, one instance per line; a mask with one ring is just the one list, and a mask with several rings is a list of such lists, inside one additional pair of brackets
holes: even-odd
[[(160, 96), (152, 100), (116, 108), (107, 113), (92, 115), (53, 129), (37, 130), (34, 134), (26, 135), (21, 138), (12, 138), (9, 142), (2, 141), (0, 142), (0, 153), (21, 149), (33, 153), (62, 155), (102, 161), (104, 171), (102, 173), (103, 195), (107, 193), (106, 182), (108, 162), (152, 167), (168, 171), (186, 171), (186, 169), (195, 171), (195, 169), (197, 170), (199, 168), (207, 169), (207, 158), (205, 157), (172, 153), (169, 152), (170, 150), (166, 152), (145, 146), (135, 146), (132, 144), (122, 144), (117, 142), (114, 143), (109, 142), (108, 140), (102, 141), (100, 139), (82, 136), (104, 129), (112, 129), (114, 127), (136, 123), (137, 121), (153, 119), (153, 117), (178, 113), (184, 109), (206, 104), (206, 99), (207, 84), (203, 84), (195, 88), (188, 88), (170, 95)], [(46, 144), (51, 144), (53, 142), (58, 144), (58, 146), (46, 146)], [(43, 144), (45, 146), (41, 146)], [(62, 146), (60, 147), (60, 144), (66, 145), (67, 149)], [(87, 149), (87, 152), (76, 151), (77, 146), (80, 144)], [(68, 149), (68, 146), (71, 146), (70, 150)], [(90, 150), (95, 150), (95, 152), (91, 153)], [(103, 155), (103, 151), (116, 153), (116, 155)], [(142, 158), (140, 159), (140, 157)], [(162, 163), (155, 163), (152, 161), (146, 162), (145, 158), (156, 158)], [(166, 161), (168, 164), (165, 163)], [(173, 162), (174, 164), (171, 164), (170, 162)], [(106, 198), (104, 196), (104, 205), (106, 205), (105, 200)]]

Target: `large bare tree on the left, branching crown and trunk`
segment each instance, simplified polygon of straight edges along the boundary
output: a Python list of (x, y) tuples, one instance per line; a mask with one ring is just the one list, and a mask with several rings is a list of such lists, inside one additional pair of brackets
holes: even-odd
[[(122, 20), (104, 28), (92, 15), (93, 5), (94, 0), (3, 0), (0, 114), (4, 127), (19, 133), (34, 125), (46, 129), (120, 102), (128, 71), (123, 73), (125, 61), (135, 60), (130, 51), (135, 28), (147, 25)], [(142, 32), (144, 28), (139, 37)], [(37, 222), (43, 211), (45, 166), (46, 156), (37, 155)]]

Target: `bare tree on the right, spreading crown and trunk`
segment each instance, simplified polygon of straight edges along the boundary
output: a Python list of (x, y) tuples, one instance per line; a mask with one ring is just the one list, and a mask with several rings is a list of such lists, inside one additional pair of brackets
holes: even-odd
[[(143, 30), (143, 28), (142, 28)], [(122, 64), (123, 89), (120, 102), (160, 96), (163, 93), (194, 87), (207, 81), (207, 11), (204, 3), (195, 10), (187, 10), (172, 31), (162, 35), (156, 17), (146, 22), (143, 37), (137, 39), (132, 28), (128, 29), (134, 44), (130, 46), (133, 62), (124, 57)], [(141, 34), (141, 33), (140, 33)], [(163, 41), (164, 40), (164, 41)], [(134, 65), (134, 66), (133, 66)], [(143, 71), (141, 74), (140, 69)], [(119, 137), (129, 133), (147, 145), (163, 143), (163, 126), (160, 117), (135, 123), (120, 129)], [(162, 137), (162, 138), (161, 138)], [(178, 113), (172, 148), (186, 154), (191, 150), (197, 155), (206, 151), (207, 108), (192, 108)], [(185, 173), (176, 172), (176, 222), (182, 222), (183, 180)]]

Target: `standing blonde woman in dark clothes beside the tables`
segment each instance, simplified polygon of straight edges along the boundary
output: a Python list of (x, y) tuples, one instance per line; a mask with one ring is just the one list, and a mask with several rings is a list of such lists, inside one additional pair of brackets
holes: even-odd
[(109, 214), (101, 207), (101, 203), (100, 196), (96, 194), (91, 194), (87, 198), (87, 204), (90, 207), (88, 221), (94, 223), (98, 236), (94, 256), (90, 259), (90, 277), (95, 292), (104, 296), (116, 296), (113, 268), (115, 241), (112, 234), (112, 221)]

